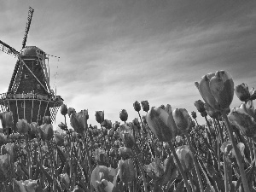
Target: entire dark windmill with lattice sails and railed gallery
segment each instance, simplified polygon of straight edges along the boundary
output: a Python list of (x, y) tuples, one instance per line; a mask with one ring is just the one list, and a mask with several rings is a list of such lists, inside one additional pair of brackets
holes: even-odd
[(13, 113), (14, 125), (18, 119), (41, 125), (44, 116), (50, 116), (54, 121), (63, 103), (61, 96), (55, 96), (50, 90), (49, 71), (45, 64), (45, 60), (49, 59), (47, 54), (36, 46), (26, 46), (33, 11), (30, 7), (20, 52), (0, 40), (0, 49), (18, 58), (9, 89), (0, 95), (0, 110)]

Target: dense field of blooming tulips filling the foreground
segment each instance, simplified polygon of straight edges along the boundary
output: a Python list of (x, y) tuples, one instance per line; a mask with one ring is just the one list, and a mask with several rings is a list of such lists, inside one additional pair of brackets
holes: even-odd
[[(115, 122), (96, 111), (88, 125), (87, 110), (62, 104), (60, 131), (48, 116), (43, 125), (20, 119), (13, 131), (12, 112), (0, 113), (0, 191), (256, 191), (256, 90), (225, 71), (195, 89), (195, 111), (134, 102), (131, 122), (122, 109)], [(230, 108), (234, 96), (241, 106)]]

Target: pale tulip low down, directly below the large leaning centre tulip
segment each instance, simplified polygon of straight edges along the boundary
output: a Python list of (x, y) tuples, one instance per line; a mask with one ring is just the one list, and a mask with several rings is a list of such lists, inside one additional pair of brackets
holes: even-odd
[(188, 145), (180, 146), (176, 149), (177, 157), (180, 160), (184, 172), (189, 172), (193, 167), (192, 152)]

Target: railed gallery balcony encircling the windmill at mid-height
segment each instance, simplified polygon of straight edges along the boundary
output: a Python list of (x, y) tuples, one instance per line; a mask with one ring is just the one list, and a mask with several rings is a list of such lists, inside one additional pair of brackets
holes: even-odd
[(0, 100), (41, 100), (41, 101), (49, 101), (49, 102), (58, 102), (61, 101), (61, 96), (45, 96), (33, 93), (24, 93), (24, 94), (9, 94), (2, 93), (0, 94)]

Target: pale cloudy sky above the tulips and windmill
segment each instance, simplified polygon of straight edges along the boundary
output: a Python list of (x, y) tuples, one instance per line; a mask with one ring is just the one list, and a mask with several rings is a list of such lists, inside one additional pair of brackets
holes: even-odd
[[(235, 86), (256, 86), (256, 1), (0, 1), (0, 39), (17, 50), (29, 6), (26, 45), (60, 57), (49, 57), (51, 88), (67, 108), (88, 109), (91, 125), (99, 126), (96, 111), (112, 122), (121, 109), (128, 121), (137, 118), (135, 101), (196, 111), (202, 98), (195, 81), (218, 70), (229, 72)], [(0, 52), (1, 93), (15, 62)], [(240, 104), (235, 94), (231, 108)], [(59, 112), (55, 125), (61, 121)]]

